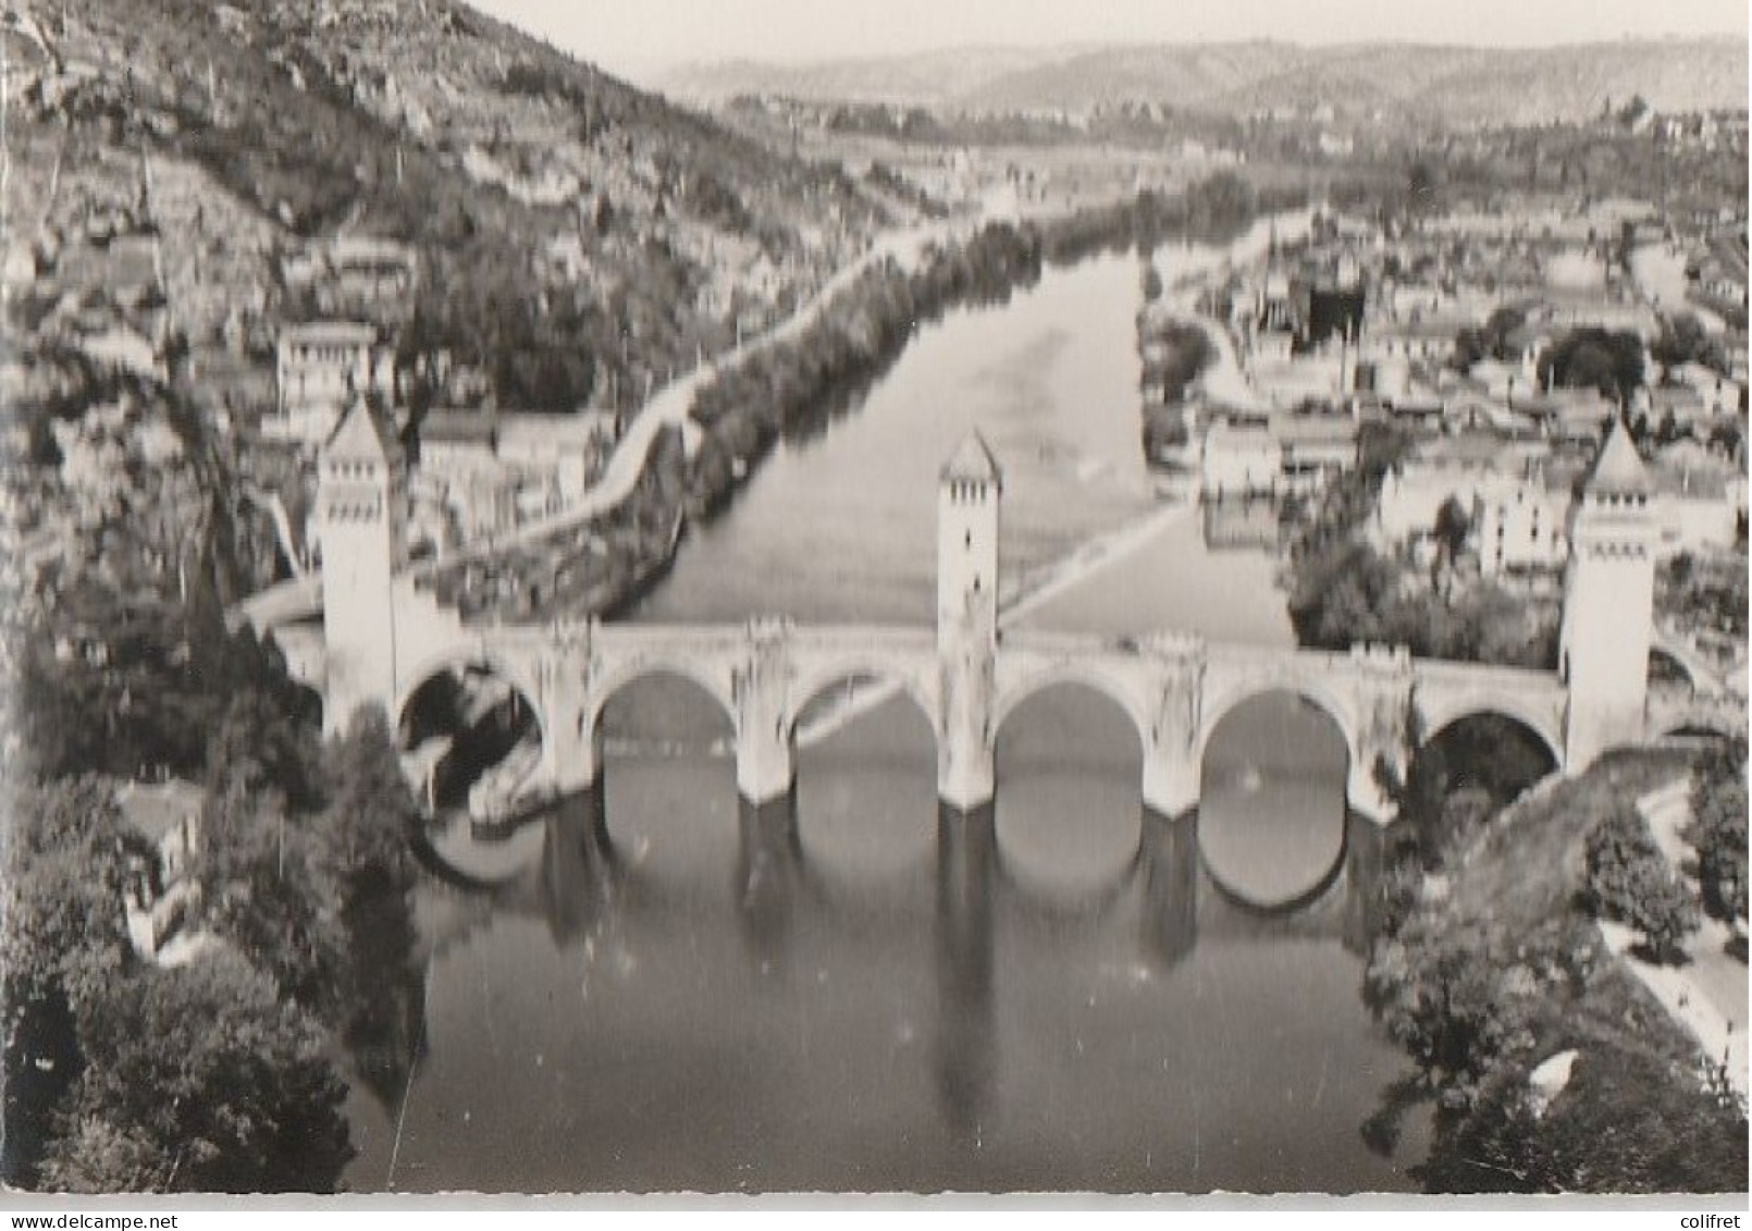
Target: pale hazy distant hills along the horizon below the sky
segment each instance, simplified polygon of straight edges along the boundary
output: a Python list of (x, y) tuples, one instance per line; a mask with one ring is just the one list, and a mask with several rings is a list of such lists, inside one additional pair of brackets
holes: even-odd
[(1610, 98), (1657, 110), (1747, 105), (1747, 44), (1733, 37), (1440, 47), (1286, 42), (962, 47), (809, 65), (689, 65), (652, 81), (676, 96), (783, 93), (965, 110), (1083, 110), (1113, 102), (1247, 114), (1332, 107), (1339, 116), (1473, 123), (1580, 119)]

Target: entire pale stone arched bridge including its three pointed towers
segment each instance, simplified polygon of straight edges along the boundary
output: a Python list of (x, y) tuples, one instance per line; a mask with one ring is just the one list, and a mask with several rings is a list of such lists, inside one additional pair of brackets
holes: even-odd
[(1586, 768), (1645, 735), (1654, 526), (1649, 482), (1622, 424), (1589, 475), (1572, 524), (1561, 672), (1412, 659), (1403, 649), (1347, 652), (1207, 642), (1181, 633), (1104, 637), (999, 630), (999, 521), (1004, 477), (969, 437), (937, 491), (937, 619), (927, 626), (464, 623), (413, 572), (398, 570), (399, 489), (391, 440), (363, 409), (336, 428), (321, 465), (326, 721), (382, 705), (391, 728), (440, 672), (496, 673), (529, 703), (541, 758), (519, 794), (590, 789), (603, 773), (601, 715), (638, 679), (697, 684), (734, 728), (736, 782), (750, 803), (794, 784), (809, 703), (876, 679), (916, 705), (937, 742), (937, 793), (958, 812), (995, 798), (1004, 719), (1053, 684), (1084, 684), (1132, 719), (1144, 803), (1195, 808), (1216, 726), (1242, 701), (1295, 693), (1346, 740), (1349, 807), (1393, 819), (1379, 768), (1403, 772), (1414, 733), (1428, 738), (1473, 714), (1503, 714), (1542, 738), (1558, 766)]

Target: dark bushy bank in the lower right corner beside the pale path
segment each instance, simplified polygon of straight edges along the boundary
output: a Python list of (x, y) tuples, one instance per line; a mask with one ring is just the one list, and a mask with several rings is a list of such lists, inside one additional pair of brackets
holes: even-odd
[[(1745, 1184), (1743, 1105), (1696, 1042), (1601, 945), (1586, 865), (1600, 817), (1671, 775), (1608, 758), (1456, 840), (1437, 875), (1405, 870), (1365, 1000), (1410, 1068), (1363, 1126), (1396, 1149), (1433, 1106), (1414, 1175), (1431, 1192), (1715, 1192)], [(1535, 1085), (1573, 1052), (1568, 1078)]]

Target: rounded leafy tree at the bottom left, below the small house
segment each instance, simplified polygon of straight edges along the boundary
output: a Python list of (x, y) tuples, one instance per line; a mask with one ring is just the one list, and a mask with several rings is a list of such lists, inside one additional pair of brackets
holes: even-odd
[(233, 952), (114, 980), (81, 1005), (81, 1073), (51, 1189), (331, 1192), (352, 1157), (322, 1031)]

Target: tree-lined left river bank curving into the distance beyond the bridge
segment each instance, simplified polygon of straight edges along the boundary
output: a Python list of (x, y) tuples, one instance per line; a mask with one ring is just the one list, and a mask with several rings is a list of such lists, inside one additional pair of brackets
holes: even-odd
[[(1240, 189), (1218, 177), (1183, 196), (1141, 193), (1053, 221), (992, 223), (964, 240), (925, 228), (880, 244), (830, 282), (832, 293), (760, 345), (708, 365), (646, 405), (583, 505), (492, 552), (452, 558), (434, 570), (473, 568), (477, 584), (515, 596), (519, 617), (624, 610), (664, 561), (650, 554), (655, 537), (597, 535), (604, 517), (641, 526), (668, 526), (678, 516), (711, 521), (780, 438), (818, 433), (855, 405), (922, 323), (972, 303), (1002, 303), (1035, 284), (1042, 265), (1153, 247), (1176, 233), (1232, 242), (1261, 205), (1289, 203)], [(622, 580), (587, 587), (592, 601), (580, 607), (576, 586), (554, 584), (568, 572), (568, 561), (554, 554), (564, 556), (568, 544), (580, 551), (589, 544), (592, 575)]]

